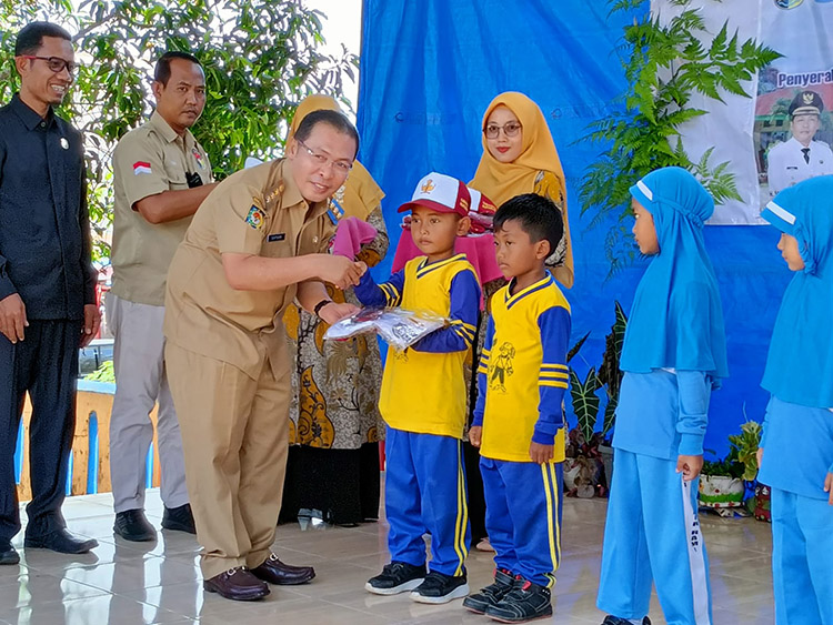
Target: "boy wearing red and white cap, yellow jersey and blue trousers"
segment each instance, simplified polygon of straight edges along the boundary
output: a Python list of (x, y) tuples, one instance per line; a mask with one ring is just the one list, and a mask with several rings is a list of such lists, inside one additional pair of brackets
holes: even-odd
[[(410, 202), (411, 236), (424, 254), (377, 285), (365, 273), (355, 294), (364, 305), (430, 311), (451, 320), (405, 352), (389, 349), (379, 410), (388, 425), (385, 512), (391, 563), (368, 581), (379, 595), (411, 592), (420, 603), (469, 594), (469, 517), (462, 436), (466, 387), (463, 362), (480, 312), (480, 285), (454, 241), (470, 226), (471, 196), (440, 173), (420, 180)], [(423, 535), (431, 535), (426, 572)]]

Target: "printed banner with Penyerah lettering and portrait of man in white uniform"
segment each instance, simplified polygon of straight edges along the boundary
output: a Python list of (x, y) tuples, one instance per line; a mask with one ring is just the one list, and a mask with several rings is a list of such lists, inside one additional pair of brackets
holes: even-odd
[(783, 54), (760, 72), (754, 144), (763, 206), (780, 191), (833, 174), (833, 2), (764, 2), (762, 40)]

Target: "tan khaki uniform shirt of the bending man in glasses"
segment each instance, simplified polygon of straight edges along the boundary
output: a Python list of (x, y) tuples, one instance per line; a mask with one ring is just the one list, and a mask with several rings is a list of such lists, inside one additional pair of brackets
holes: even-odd
[(279, 371), (288, 357), (283, 311), (297, 288), (234, 290), (221, 254), (287, 259), (324, 253), (334, 233), (327, 211), (328, 202), (310, 205), (301, 196), (285, 160), (223, 180), (200, 205), (171, 262), (167, 339), (255, 380), (267, 360), (273, 373)]

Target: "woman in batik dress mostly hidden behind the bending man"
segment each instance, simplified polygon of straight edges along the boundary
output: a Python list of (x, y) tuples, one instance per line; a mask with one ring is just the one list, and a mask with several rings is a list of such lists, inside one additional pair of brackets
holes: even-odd
[[(332, 98), (309, 95), (298, 107), (289, 138), (312, 111), (339, 110)], [(384, 193), (367, 169), (353, 163), (332, 198), (331, 253), (375, 265), (388, 251)], [(337, 302), (358, 304), (351, 291), (327, 285)], [(294, 350), (290, 453), (281, 521), (303, 515), (353, 525), (379, 517), (379, 387), (382, 364), (373, 336), (324, 341), (327, 323), (297, 306), (284, 317)], [(307, 512), (309, 511), (309, 512)]]

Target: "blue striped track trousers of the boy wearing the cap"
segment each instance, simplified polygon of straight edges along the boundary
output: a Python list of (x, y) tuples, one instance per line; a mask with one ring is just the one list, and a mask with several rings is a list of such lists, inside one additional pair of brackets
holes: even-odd
[(431, 571), (462, 575), (471, 542), (462, 441), (388, 427), (385, 452), (391, 561), (424, 564), (431, 534)]

